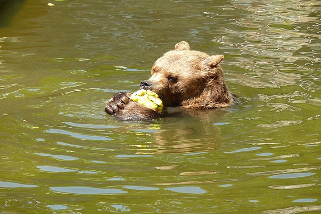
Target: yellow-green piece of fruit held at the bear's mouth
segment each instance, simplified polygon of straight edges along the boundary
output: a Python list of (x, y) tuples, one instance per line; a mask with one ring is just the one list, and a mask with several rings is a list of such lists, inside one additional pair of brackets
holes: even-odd
[(141, 89), (130, 95), (130, 99), (135, 102), (139, 102), (149, 109), (162, 113), (163, 102), (159, 99), (158, 94), (153, 91)]

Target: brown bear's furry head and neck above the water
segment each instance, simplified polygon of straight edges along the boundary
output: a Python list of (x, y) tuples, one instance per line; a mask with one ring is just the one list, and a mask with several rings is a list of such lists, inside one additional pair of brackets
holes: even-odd
[(223, 58), (223, 55), (209, 56), (190, 50), (190, 45), (181, 41), (154, 63), (152, 76), (142, 81), (141, 89), (156, 92), (164, 106), (207, 109), (217, 107), (211, 106), (213, 102), (230, 104), (219, 65)]

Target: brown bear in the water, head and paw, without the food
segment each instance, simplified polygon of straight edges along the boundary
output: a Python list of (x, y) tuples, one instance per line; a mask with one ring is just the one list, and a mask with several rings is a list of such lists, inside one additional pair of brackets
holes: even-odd
[[(189, 109), (224, 108), (233, 98), (223, 78), (219, 63), (223, 55), (209, 56), (190, 50), (181, 41), (175, 49), (156, 60), (151, 77), (141, 82), (140, 89), (154, 91), (161, 97), (164, 108), (182, 106)], [(115, 94), (106, 103), (105, 112), (121, 120), (143, 120), (162, 117), (163, 114), (148, 109), (130, 99), (130, 93)]]

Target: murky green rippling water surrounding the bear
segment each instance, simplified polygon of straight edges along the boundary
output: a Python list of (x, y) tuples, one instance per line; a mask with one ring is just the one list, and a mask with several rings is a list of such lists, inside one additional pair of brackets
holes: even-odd
[[(0, 213), (320, 212), (318, 1), (21, 2), (0, 18)], [(181, 40), (225, 55), (242, 105), (104, 113)]]

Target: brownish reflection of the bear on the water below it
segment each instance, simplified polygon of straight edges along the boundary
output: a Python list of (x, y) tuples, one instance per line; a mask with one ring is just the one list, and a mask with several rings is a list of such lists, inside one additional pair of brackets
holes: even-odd
[(227, 111), (221, 109), (189, 110), (168, 108), (165, 118), (130, 123), (128, 133), (135, 133), (140, 142), (137, 154), (186, 153), (216, 150), (220, 147), (220, 129), (215, 123)]

